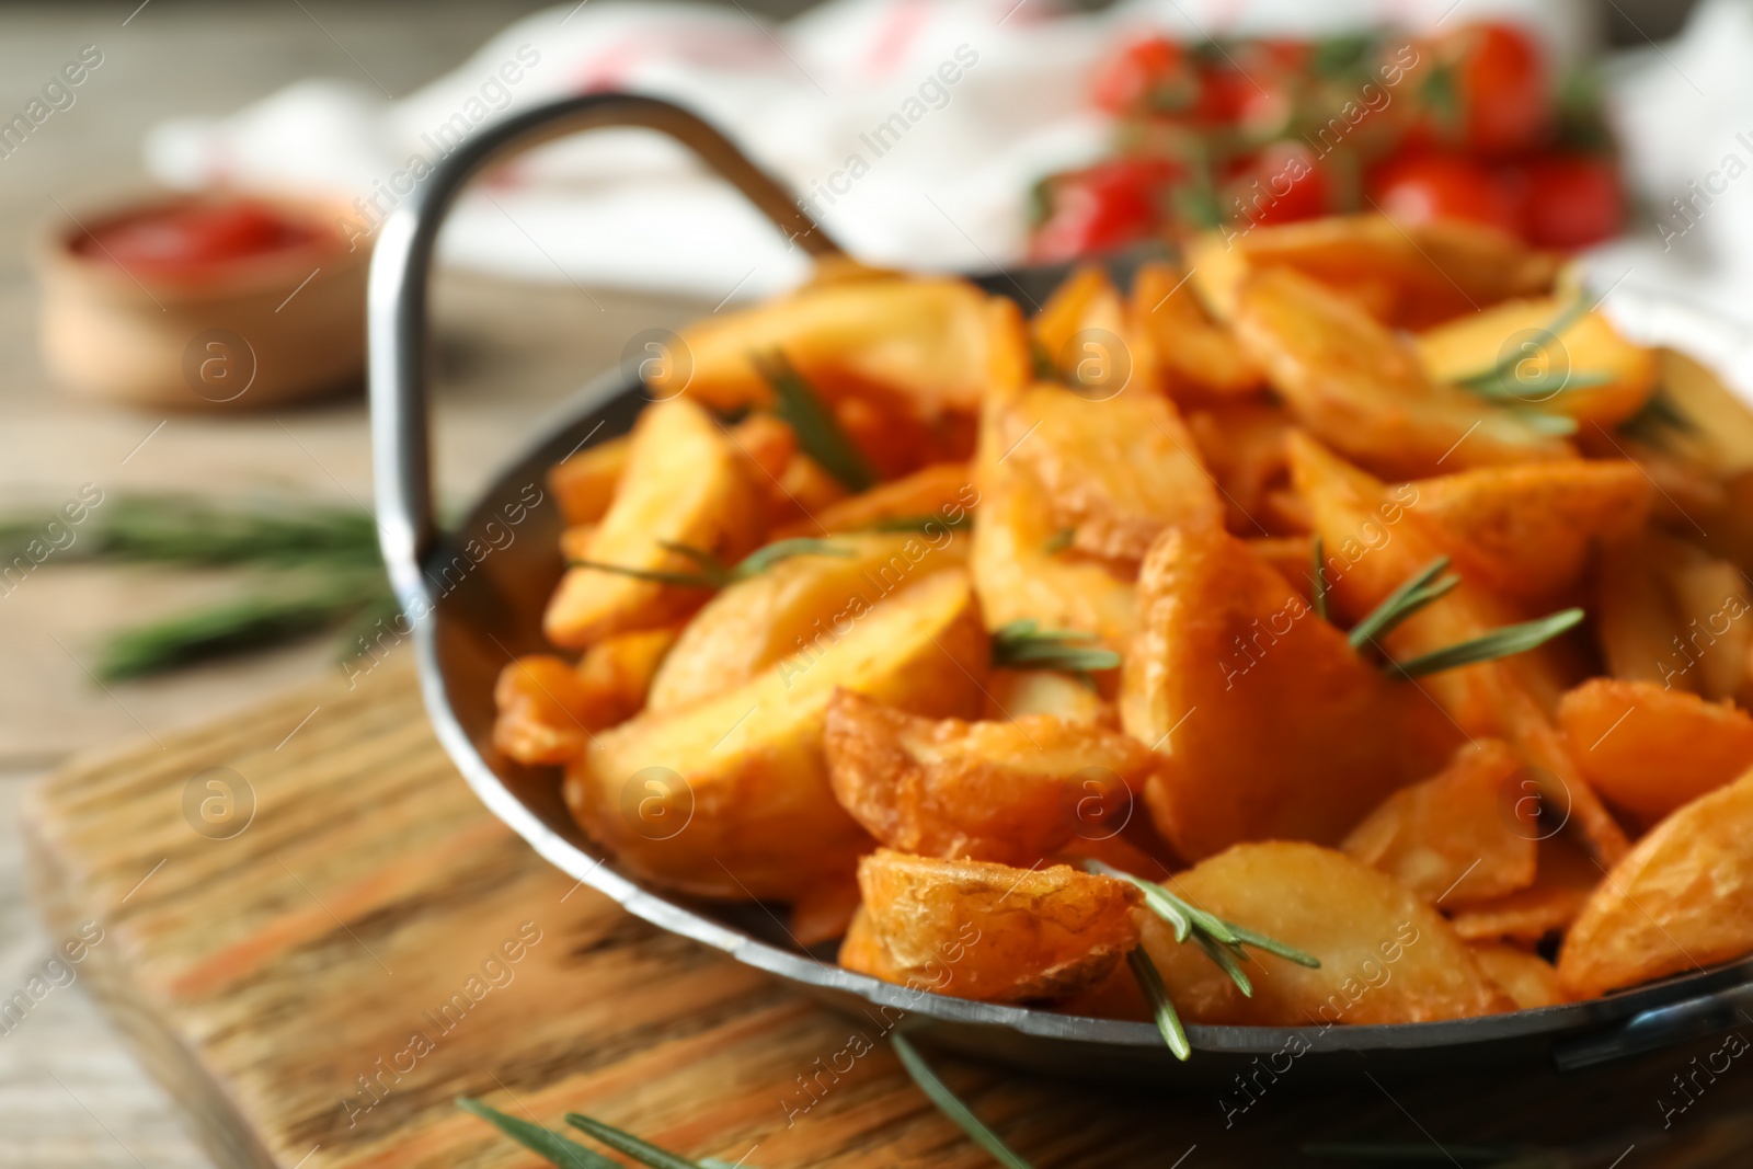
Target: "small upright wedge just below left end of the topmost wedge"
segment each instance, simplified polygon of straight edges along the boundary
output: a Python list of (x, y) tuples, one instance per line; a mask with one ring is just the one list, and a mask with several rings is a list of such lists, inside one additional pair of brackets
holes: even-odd
[(1259, 396), (1266, 377), (1183, 287), (1187, 279), (1162, 263), (1143, 265), (1132, 277), (1131, 337), (1150, 347), (1159, 387), (1183, 407)]

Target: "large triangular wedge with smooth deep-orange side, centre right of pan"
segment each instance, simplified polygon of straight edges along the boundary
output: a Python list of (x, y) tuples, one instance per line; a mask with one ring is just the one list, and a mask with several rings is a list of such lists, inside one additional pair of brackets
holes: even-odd
[(1336, 843), (1455, 748), (1423, 694), (1359, 659), (1217, 528), (1167, 529), (1138, 591), (1120, 719), (1162, 755), (1146, 797), (1187, 859), (1246, 840)]

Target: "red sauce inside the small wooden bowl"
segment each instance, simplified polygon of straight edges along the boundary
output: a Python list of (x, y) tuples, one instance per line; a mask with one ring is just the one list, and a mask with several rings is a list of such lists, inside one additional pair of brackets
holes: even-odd
[(133, 275), (188, 280), (237, 263), (309, 247), (331, 233), (258, 198), (191, 200), (93, 224), (74, 252)]

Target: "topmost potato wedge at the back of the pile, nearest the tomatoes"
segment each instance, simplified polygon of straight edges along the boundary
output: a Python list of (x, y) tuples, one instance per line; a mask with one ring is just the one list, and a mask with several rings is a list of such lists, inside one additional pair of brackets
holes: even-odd
[(1562, 259), (1520, 240), (1458, 221), (1395, 224), (1348, 216), (1211, 231), (1192, 242), (1194, 287), (1211, 312), (1234, 317), (1238, 289), (1253, 273), (1290, 268), (1348, 296), (1383, 324), (1427, 329), (1511, 296), (1551, 287)]

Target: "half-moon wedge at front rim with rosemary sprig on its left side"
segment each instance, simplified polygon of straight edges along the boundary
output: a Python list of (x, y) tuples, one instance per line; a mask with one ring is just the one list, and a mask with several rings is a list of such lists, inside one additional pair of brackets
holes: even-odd
[(1143, 945), (1182, 1018), (1308, 1027), (1422, 1024), (1513, 1010), (1443, 917), (1394, 878), (1297, 841), (1236, 845), (1169, 880), (1185, 901), (1320, 959), (1252, 950), (1245, 997), (1196, 945), (1152, 920)]

